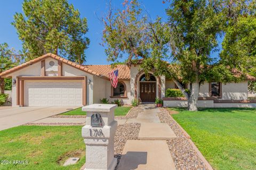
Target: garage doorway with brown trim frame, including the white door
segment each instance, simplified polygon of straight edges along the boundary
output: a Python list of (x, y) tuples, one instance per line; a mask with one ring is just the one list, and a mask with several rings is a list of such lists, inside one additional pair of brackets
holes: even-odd
[(86, 77), (17, 77), (19, 106), (84, 106)]

